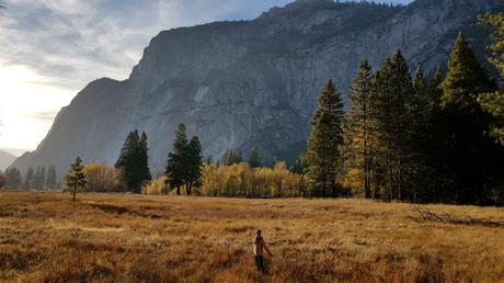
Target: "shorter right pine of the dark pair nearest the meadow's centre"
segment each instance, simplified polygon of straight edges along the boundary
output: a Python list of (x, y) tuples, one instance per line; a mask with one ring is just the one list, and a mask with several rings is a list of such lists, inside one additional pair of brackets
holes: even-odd
[(194, 185), (198, 185), (202, 179), (202, 168), (203, 168), (203, 155), (202, 155), (202, 144), (199, 143), (198, 137), (193, 137), (187, 145), (186, 150), (186, 190), (187, 194), (192, 194), (192, 189)]

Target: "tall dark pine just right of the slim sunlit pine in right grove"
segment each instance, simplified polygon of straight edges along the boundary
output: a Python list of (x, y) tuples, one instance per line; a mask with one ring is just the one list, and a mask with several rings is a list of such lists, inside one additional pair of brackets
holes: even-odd
[(377, 143), (376, 167), (380, 176), (376, 181), (385, 186), (387, 200), (409, 197), (405, 183), (409, 172), (404, 170), (408, 159), (406, 104), (413, 87), (408, 65), (398, 50), (393, 58), (386, 58), (375, 76), (375, 98), (371, 100), (373, 116), (376, 118)]

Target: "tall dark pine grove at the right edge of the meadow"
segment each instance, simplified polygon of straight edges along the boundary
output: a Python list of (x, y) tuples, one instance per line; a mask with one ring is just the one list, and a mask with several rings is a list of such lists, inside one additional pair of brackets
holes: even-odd
[(502, 103), (497, 87), (462, 34), (447, 67), (431, 79), (417, 67), (412, 78), (400, 50), (376, 72), (363, 60), (346, 113), (329, 81), (308, 139), (310, 195), (502, 203), (504, 147), (485, 104)]

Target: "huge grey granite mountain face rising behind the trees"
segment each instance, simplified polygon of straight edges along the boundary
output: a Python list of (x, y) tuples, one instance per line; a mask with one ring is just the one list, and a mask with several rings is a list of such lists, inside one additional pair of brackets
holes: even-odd
[[(408, 7), (298, 0), (253, 21), (161, 32), (124, 81), (100, 79), (61, 110), (45, 140), (13, 166), (55, 165), (76, 156), (113, 165), (128, 132), (149, 136), (161, 172), (176, 125), (202, 139), (205, 156), (226, 149), (290, 160), (302, 150), (317, 98), (333, 79), (346, 92), (362, 58), (377, 67), (401, 48), (411, 66), (444, 66), (461, 30), (484, 54), (476, 18), (500, 0), (416, 0)], [(484, 59), (481, 58), (483, 63)]]

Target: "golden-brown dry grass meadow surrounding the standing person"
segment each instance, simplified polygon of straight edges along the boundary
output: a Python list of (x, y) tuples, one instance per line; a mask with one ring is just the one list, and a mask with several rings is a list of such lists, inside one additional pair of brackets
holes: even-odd
[[(504, 282), (504, 208), (78, 199), (0, 193), (0, 282)], [(266, 275), (256, 228), (274, 253)]]

